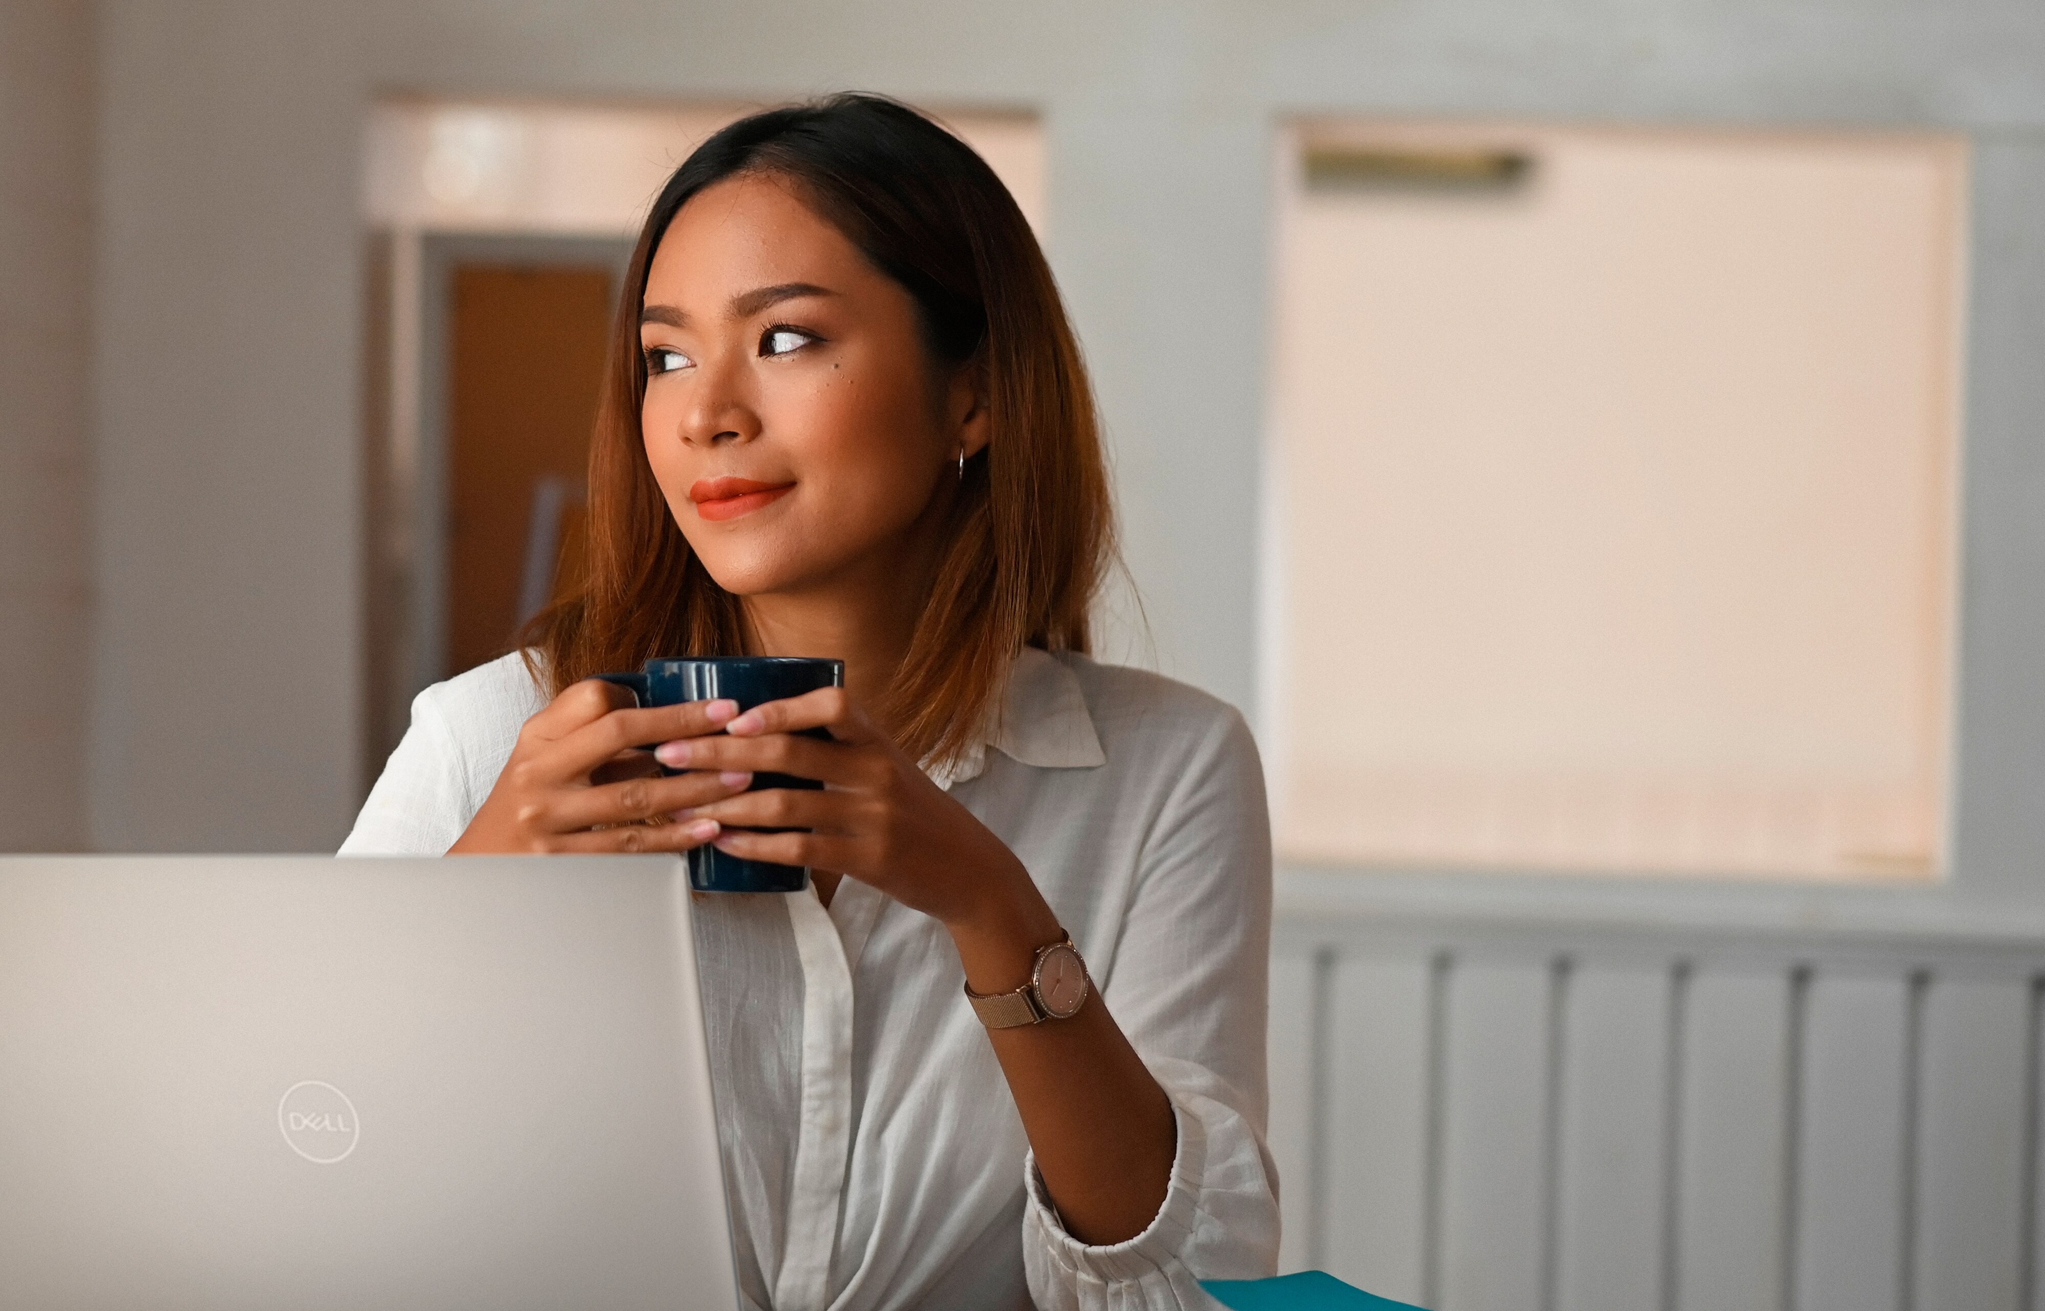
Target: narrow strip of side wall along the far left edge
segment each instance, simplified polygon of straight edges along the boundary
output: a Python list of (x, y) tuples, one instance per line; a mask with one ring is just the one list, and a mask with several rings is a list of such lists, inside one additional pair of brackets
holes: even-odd
[(0, 851), (86, 841), (92, 10), (0, 4)]

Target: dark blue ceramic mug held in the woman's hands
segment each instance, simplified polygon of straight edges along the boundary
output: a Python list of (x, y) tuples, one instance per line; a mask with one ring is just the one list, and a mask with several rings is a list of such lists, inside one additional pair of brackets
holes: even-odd
[[(618, 683), (632, 691), (644, 706), (679, 706), (683, 702), (738, 702), (738, 710), (753, 710), (767, 702), (800, 697), (818, 687), (845, 687), (845, 661), (816, 661), (810, 657), (728, 657), (689, 659), (661, 657), (646, 661), (640, 673), (599, 673), (605, 683)], [(804, 736), (830, 740), (830, 732), (810, 728)], [(681, 773), (661, 767), (663, 773)], [(765, 787), (820, 789), (816, 779), (798, 779), (785, 773), (755, 773), (746, 792)], [(781, 832), (763, 828), (759, 832)], [(703, 845), (685, 853), (689, 861), (689, 886), (697, 892), (802, 892), (810, 886), (810, 869), (804, 865), (777, 865), (773, 861), (748, 861), (744, 857)]]

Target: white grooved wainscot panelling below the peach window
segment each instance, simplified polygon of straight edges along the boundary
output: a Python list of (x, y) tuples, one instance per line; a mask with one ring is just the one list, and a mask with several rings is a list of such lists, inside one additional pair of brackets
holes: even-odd
[(1286, 871), (1282, 1270), (1436, 1311), (2037, 1311), (2045, 924)]

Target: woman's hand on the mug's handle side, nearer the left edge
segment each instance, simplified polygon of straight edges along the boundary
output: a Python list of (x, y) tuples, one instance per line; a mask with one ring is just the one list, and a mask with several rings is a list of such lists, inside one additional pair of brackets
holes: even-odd
[(663, 777), (642, 747), (722, 732), (738, 704), (630, 704), (626, 689), (585, 679), (526, 720), (497, 785), (448, 855), (689, 851), (718, 837), (716, 820), (671, 816), (740, 794), (753, 775)]

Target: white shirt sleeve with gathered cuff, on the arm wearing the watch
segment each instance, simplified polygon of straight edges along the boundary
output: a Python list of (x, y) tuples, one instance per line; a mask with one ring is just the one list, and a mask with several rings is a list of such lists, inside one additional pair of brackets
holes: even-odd
[(1092, 1248), (1065, 1233), (1029, 1158), (1022, 1262), (1043, 1311), (1205, 1311), (1217, 1303), (1200, 1280), (1266, 1278), (1278, 1264), (1264, 771), (1233, 710), (1192, 753), (1162, 759), (1186, 767), (1155, 812), (1102, 994), (1172, 1098), (1172, 1180), (1143, 1233)]

